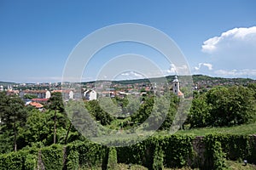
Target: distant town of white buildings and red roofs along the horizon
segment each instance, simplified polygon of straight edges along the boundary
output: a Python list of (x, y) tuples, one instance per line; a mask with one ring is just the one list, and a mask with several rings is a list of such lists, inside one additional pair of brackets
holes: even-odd
[[(207, 89), (216, 86), (246, 86), (248, 83), (256, 82), (249, 78), (219, 78), (207, 77), (203, 75), (194, 75), (194, 82), (191, 90), (198, 92), (206, 92)], [(177, 77), (166, 77), (166, 84), (161, 84), (158, 88), (160, 94), (165, 93), (165, 88), (169, 88), (179, 97), (184, 97), (183, 82), (179, 82)], [(155, 80), (154, 80), (155, 81)], [(156, 80), (157, 82), (157, 80)], [(84, 99), (93, 100), (97, 97), (121, 97), (126, 95), (145, 95), (154, 93), (155, 83), (148, 79), (128, 80), (128, 81), (97, 81), (97, 82), (77, 82), (74, 83), (76, 88), (62, 89), (62, 86), (67, 86), (70, 82), (44, 82), (44, 83), (15, 83), (15, 82), (0, 82), (0, 91), (6, 91), (8, 94), (20, 96), (26, 105), (33, 105), (39, 110), (44, 108), (44, 104), (50, 98), (52, 93), (59, 92), (62, 94), (63, 100), (68, 99)], [(181, 89), (181, 90), (180, 90)], [(188, 91), (184, 90), (185, 93)]]

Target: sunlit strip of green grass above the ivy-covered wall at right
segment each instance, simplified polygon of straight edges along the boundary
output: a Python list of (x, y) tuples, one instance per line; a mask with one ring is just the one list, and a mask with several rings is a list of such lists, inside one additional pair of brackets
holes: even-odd
[[(161, 131), (157, 134), (167, 134), (167, 131)], [(223, 134), (255, 134), (256, 122), (244, 124), (234, 127), (204, 127), (193, 128), (187, 130), (179, 130), (176, 134), (192, 135), (192, 136), (205, 136), (207, 133), (223, 133)]]

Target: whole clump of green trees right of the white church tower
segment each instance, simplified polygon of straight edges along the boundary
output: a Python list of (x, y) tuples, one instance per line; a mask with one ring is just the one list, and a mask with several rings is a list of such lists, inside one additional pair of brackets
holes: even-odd
[(191, 127), (224, 127), (253, 122), (255, 99), (251, 88), (212, 88), (195, 98), (189, 112)]

